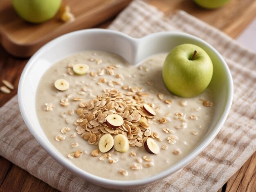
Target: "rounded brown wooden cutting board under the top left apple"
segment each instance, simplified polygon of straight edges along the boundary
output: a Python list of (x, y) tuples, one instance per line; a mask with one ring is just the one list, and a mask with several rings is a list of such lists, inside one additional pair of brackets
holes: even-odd
[(94, 27), (117, 15), (131, 0), (63, 0), (75, 16), (62, 22), (59, 13), (41, 24), (22, 20), (11, 0), (0, 0), (0, 43), (13, 56), (29, 57), (49, 40), (64, 33)]

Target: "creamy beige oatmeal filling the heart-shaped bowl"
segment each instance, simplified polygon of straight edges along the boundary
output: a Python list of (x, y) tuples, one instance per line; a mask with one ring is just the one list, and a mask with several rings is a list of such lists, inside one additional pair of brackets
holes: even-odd
[[(86, 51), (53, 65), (40, 80), (36, 98), (40, 125), (52, 145), (77, 167), (116, 180), (152, 176), (186, 156), (211, 122), (211, 91), (194, 98), (170, 94), (162, 80), (165, 57), (154, 55), (134, 67), (115, 54)], [(75, 74), (75, 64), (88, 65), (88, 73)], [(56, 89), (57, 79), (69, 88)], [(107, 123), (111, 114), (122, 117), (120, 127)], [(128, 151), (112, 147), (102, 153), (99, 140), (106, 134), (125, 135)], [(158, 145), (157, 154), (145, 149), (148, 138)]]

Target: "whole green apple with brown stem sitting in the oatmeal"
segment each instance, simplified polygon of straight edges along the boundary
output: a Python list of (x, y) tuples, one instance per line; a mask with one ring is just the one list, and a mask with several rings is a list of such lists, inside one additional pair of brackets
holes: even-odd
[(194, 97), (209, 85), (213, 64), (209, 55), (193, 44), (174, 47), (164, 60), (162, 69), (167, 89), (182, 97)]

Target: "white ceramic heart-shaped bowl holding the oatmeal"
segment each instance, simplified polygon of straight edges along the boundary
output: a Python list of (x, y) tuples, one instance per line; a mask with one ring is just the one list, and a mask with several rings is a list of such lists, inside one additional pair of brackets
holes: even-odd
[[(168, 52), (173, 47), (183, 43), (192, 43), (202, 47), (213, 61), (213, 78), (209, 86), (213, 91), (215, 111), (211, 124), (200, 143), (178, 163), (146, 179), (115, 181), (94, 176), (79, 169), (68, 161), (66, 157), (61, 155), (49, 142), (36, 116), (36, 89), (45, 71), (58, 60), (79, 51), (105, 50), (119, 54), (131, 63), (131, 65), (136, 65), (148, 56)], [(56, 161), (61, 163), (61, 165), (85, 180), (106, 188), (118, 189), (148, 185), (159, 179), (163, 179), (189, 163), (189, 161), (195, 158), (195, 156), (209, 145), (219, 132), (227, 118), (232, 98), (232, 77), (222, 56), (207, 42), (195, 36), (178, 32), (155, 33), (139, 39), (131, 38), (124, 33), (106, 29), (87, 29), (65, 34), (44, 45), (31, 57), (22, 72), (18, 87), (20, 112), (29, 131), (34, 135), (40, 145), (42, 145)]]

